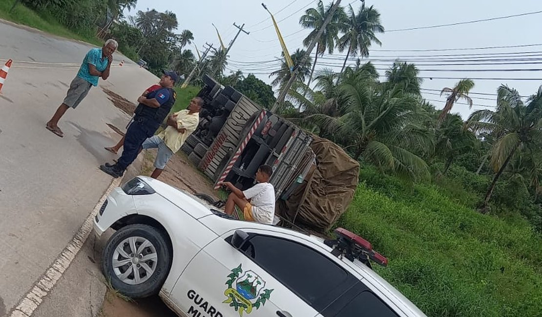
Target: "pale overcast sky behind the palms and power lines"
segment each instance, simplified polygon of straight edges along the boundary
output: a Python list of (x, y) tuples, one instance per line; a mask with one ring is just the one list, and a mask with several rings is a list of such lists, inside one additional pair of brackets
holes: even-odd
[[(327, 4), (331, 1), (324, 1)], [(274, 13), (276, 21), (279, 23), (281, 34), (285, 37), (285, 42), (290, 54), (297, 48), (302, 47), (302, 39), (308, 34), (309, 30), (302, 30), (299, 25), (299, 17), (309, 7), (314, 7), (317, 1), (313, 0), (266, 0), (264, 2), (268, 9)], [(341, 5), (352, 4), (354, 9), (361, 5), (358, 1), (345, 1)], [(421, 69), (420, 76), (428, 77), (424, 80), (422, 88), (441, 90), (443, 87), (453, 87), (456, 79), (437, 79), (430, 80), (429, 77), (454, 77), (454, 78), (542, 78), (540, 71), (442, 71), (442, 69), (455, 70), (474, 70), (474, 69), (542, 69), (542, 45), (522, 48), (500, 48), (500, 49), (482, 49), (482, 50), (461, 50), (461, 51), (399, 51), (399, 50), (429, 50), (429, 49), (455, 49), (455, 48), (478, 48), (495, 47), (507, 45), (527, 45), (541, 44), (540, 32), (542, 30), (542, 14), (533, 14), (506, 19), (497, 19), (495, 21), (455, 25), (451, 27), (393, 31), (397, 29), (426, 27), (431, 25), (440, 25), (464, 21), (473, 21), (478, 19), (502, 17), (509, 15), (524, 14), (542, 10), (542, 3), (537, 0), (456, 0), (454, 2), (443, 2), (435, 0), (367, 0), (366, 5), (374, 5), (380, 12), (382, 25), (387, 30), (384, 34), (378, 35), (382, 41), (382, 47), (374, 45), (370, 50), (369, 60), (373, 61), (380, 74), (384, 74), (384, 69), (391, 62), (382, 61), (395, 58), (421, 59), (425, 62), (416, 62), (417, 67)], [(165, 0), (138, 0), (136, 10), (156, 9), (158, 11), (170, 10), (175, 12), (179, 22), (178, 31), (189, 29), (193, 32), (195, 44), (198, 49), (202, 49), (205, 42), (214, 43), (218, 47), (218, 38), (216, 31), (212, 27), (214, 23), (221, 33), (224, 44), (233, 39), (237, 29), (233, 26), (245, 24), (245, 29), (250, 35), (241, 33), (237, 41), (229, 52), (229, 65), (231, 70), (241, 69), (245, 74), (253, 72), (261, 80), (270, 83), (269, 72), (273, 71), (273, 65), (278, 62), (267, 62), (274, 60), (281, 54), (280, 44), (276, 37), (272, 22), (268, 13), (262, 8), (261, 1), (256, 0), (229, 0), (229, 1), (165, 1)], [(298, 11), (298, 12), (296, 12)], [(135, 14), (136, 11), (127, 12), (128, 15)], [(289, 17), (288, 17), (289, 16)], [(282, 21), (281, 21), (282, 20)], [(280, 22), (279, 22), (280, 21)], [(190, 48), (193, 50), (193, 45)], [(428, 62), (428, 58), (451, 60), (460, 60), (461, 58), (472, 58), (472, 56), (435, 56), (448, 54), (494, 54), (521, 52), (522, 54), (502, 54), (485, 56), (493, 59), (510, 58), (530, 58), (530, 64), (506, 64), (510, 61), (493, 61), (493, 63), (505, 63), (499, 65), (442, 65), (443, 62)], [(531, 53), (527, 53), (531, 52)], [(540, 53), (539, 53), (540, 52)], [(342, 65), (341, 56), (346, 52), (340, 53), (334, 51), (333, 56), (324, 55), (319, 61), (325, 64), (337, 64), (340, 70)], [(524, 56), (525, 54), (531, 56)], [(412, 56), (415, 55), (415, 56)], [(418, 57), (418, 56), (428, 57)], [(314, 54), (312, 55), (314, 56)], [(480, 56), (478, 56), (480, 57)], [(354, 63), (354, 62), (350, 62)], [(487, 63), (487, 62), (486, 62)], [(515, 61), (514, 63), (525, 63), (525, 61)], [(432, 64), (432, 65), (426, 65)], [(435, 65), (436, 64), (436, 65)], [(317, 70), (323, 68), (317, 64)], [(272, 70), (269, 70), (272, 69)], [(435, 71), (430, 71), (431, 69)], [(227, 71), (229, 72), (229, 70)], [(495, 94), (499, 84), (508, 84), (519, 90), (521, 95), (533, 94), (542, 84), (542, 81), (518, 81), (518, 80), (474, 80), (475, 87), (472, 93)], [(423, 90), (424, 97), (435, 105), (436, 108), (442, 108), (445, 97), (440, 97), (437, 91)], [(433, 94), (437, 95), (433, 95)], [(454, 112), (460, 113), (466, 118), (469, 113), (476, 109), (482, 109), (480, 105), (494, 106), (495, 96), (471, 95), (474, 100), (472, 110), (468, 109), (466, 104), (456, 104)], [(486, 100), (488, 98), (492, 100)], [(491, 109), (491, 108), (490, 108)]]

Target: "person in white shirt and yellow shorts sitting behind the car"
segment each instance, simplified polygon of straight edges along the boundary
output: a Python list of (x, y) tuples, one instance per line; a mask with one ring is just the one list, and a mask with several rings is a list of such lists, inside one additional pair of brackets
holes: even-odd
[(230, 182), (223, 183), (231, 190), (225, 213), (232, 215), (235, 205), (243, 210), (244, 220), (273, 224), (275, 217), (275, 189), (269, 183), (273, 169), (262, 165), (256, 172), (256, 184), (241, 191)]

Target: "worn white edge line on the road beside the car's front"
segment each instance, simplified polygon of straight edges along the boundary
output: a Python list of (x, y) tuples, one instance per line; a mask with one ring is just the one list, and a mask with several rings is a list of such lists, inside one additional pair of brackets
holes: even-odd
[(60, 255), (53, 262), (53, 265), (51, 265), (42, 275), (41, 279), (36, 281), (30, 292), (23, 297), (23, 299), (18, 303), (17, 307), (11, 311), (11, 314), (9, 315), (10, 317), (30, 317), (37, 307), (40, 306), (43, 298), (49, 294), (51, 289), (53, 289), (56, 282), (59, 281), (64, 271), (68, 269), (73, 259), (75, 259), (75, 256), (83, 247), (83, 244), (85, 244), (88, 235), (93, 229), (92, 226), (96, 213), (98, 213), (98, 210), (100, 210), (100, 207), (106, 200), (107, 195), (111, 193), (111, 190), (119, 187), (120, 181), (121, 178), (114, 179), (111, 184), (109, 184), (105, 194), (101, 196), (91, 214), (88, 215), (81, 228), (79, 228), (79, 231), (72, 238), (72, 241), (70, 241), (62, 250)]

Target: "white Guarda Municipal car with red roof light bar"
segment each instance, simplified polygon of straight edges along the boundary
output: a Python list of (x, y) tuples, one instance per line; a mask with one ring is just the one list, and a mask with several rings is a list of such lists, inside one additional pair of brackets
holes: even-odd
[(94, 230), (110, 227), (102, 269), (113, 287), (159, 293), (180, 316), (425, 316), (367, 266), (387, 260), (344, 229), (323, 241), (232, 220), (143, 176), (108, 196)]

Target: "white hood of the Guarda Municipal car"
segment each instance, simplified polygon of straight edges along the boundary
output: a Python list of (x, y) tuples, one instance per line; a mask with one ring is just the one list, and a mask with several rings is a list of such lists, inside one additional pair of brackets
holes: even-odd
[(196, 219), (212, 214), (210, 208), (214, 208), (213, 206), (185, 190), (172, 187), (151, 177), (138, 176), (138, 178), (149, 184), (158, 195), (164, 197), (164, 199), (175, 204)]

